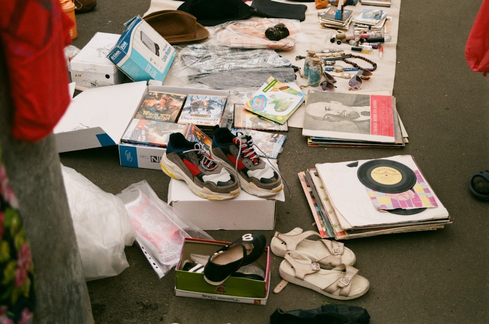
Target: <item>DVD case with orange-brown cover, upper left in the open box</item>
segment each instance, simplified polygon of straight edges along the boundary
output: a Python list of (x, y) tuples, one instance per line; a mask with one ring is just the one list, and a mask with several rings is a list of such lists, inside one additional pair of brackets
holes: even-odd
[(134, 118), (175, 123), (187, 95), (148, 91)]

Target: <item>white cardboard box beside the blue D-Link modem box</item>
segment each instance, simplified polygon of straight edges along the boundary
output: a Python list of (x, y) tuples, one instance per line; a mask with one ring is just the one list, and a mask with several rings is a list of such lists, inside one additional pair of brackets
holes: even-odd
[(107, 58), (120, 36), (97, 32), (70, 61), (71, 81), (88, 88), (122, 83), (124, 73)]

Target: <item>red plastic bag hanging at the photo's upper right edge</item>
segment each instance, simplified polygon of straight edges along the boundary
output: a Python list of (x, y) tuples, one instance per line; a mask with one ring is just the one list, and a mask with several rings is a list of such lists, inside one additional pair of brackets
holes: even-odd
[(484, 0), (465, 45), (465, 58), (472, 71), (489, 72), (489, 0)]

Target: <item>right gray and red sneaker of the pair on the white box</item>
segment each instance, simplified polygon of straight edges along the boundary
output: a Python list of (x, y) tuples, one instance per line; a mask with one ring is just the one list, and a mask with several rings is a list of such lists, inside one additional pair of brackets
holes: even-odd
[(225, 127), (216, 127), (211, 154), (238, 176), (241, 188), (248, 194), (269, 197), (284, 188), (280, 174), (255, 152), (251, 136), (240, 132), (234, 135)]

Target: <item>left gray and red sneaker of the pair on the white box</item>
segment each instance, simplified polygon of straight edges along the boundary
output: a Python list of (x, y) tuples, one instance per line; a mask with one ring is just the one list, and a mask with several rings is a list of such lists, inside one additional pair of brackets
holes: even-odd
[(240, 185), (236, 177), (215, 161), (198, 142), (190, 142), (181, 133), (170, 134), (161, 169), (172, 178), (184, 180), (190, 190), (210, 200), (236, 197)]

